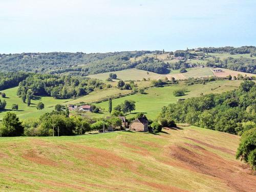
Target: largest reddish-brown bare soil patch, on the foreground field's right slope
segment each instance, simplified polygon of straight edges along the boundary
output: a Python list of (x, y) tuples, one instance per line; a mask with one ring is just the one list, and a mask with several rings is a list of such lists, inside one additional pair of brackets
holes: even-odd
[(175, 159), (172, 162), (174, 166), (220, 179), (232, 191), (256, 191), (256, 177), (249, 175), (247, 168), (241, 166), (242, 163), (223, 159), (198, 145), (185, 145), (169, 147), (169, 155)]

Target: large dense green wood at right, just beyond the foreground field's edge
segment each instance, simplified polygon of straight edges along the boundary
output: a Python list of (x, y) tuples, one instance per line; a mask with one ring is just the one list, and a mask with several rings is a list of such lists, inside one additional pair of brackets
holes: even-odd
[(256, 122), (256, 87), (244, 81), (238, 90), (188, 98), (162, 108), (160, 118), (189, 123), (231, 134), (242, 134), (248, 127), (244, 122)]

